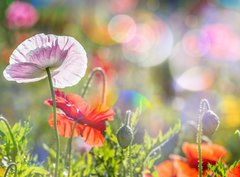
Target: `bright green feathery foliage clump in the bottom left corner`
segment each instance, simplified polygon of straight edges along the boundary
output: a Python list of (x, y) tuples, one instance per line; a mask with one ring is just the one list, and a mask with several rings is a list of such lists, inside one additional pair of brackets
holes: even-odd
[[(7, 166), (15, 162), (17, 165), (18, 176), (38, 176), (47, 175), (48, 172), (42, 167), (37, 166), (37, 157), (33, 157), (30, 153), (29, 139), (31, 125), (29, 120), (18, 122), (11, 128), (13, 137), (17, 144), (14, 147), (10, 132), (3, 121), (0, 122), (0, 166), (6, 169)], [(11, 171), (13, 174), (13, 170)]]

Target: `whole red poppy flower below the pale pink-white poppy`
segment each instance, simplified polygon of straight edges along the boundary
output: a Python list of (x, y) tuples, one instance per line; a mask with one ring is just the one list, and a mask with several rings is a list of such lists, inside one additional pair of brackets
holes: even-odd
[[(71, 137), (73, 125), (77, 122), (73, 136), (81, 136), (86, 143), (92, 146), (103, 146), (103, 132), (106, 129), (106, 121), (113, 120), (113, 110), (98, 104), (90, 106), (80, 95), (64, 94), (55, 90), (56, 106), (62, 113), (57, 113), (57, 126), (60, 136)], [(52, 100), (46, 100), (45, 104), (52, 106)], [(53, 114), (49, 117), (49, 124), (54, 128)]]

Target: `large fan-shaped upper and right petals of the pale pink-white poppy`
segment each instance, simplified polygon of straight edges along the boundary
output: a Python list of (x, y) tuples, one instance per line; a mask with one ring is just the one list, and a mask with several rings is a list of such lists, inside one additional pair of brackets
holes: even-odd
[(72, 37), (37, 34), (22, 42), (10, 56), (10, 65), (22, 62), (34, 63), (42, 70), (50, 68), (53, 86), (64, 88), (77, 84), (85, 75), (87, 55)]

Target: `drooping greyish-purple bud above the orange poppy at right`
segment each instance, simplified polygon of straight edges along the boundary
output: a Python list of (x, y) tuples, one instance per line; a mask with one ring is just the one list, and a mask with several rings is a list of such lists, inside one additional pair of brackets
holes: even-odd
[(217, 130), (219, 123), (219, 118), (213, 111), (206, 111), (202, 118), (203, 134), (212, 135)]

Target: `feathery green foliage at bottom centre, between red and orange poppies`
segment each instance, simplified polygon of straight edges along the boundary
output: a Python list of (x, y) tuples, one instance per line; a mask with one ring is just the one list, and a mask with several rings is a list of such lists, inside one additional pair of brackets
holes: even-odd
[[(135, 127), (137, 120), (135, 116), (139, 116), (139, 112), (135, 112), (132, 118), (132, 127)], [(98, 176), (98, 177), (127, 177), (130, 170), (129, 148), (123, 149), (118, 144), (116, 137), (116, 123), (120, 121), (115, 117), (114, 122), (108, 124), (105, 132), (105, 143), (103, 147), (92, 148), (84, 154), (73, 154), (72, 156), (72, 174), (71, 177), (79, 176)], [(143, 144), (131, 145), (131, 164), (134, 177), (142, 176), (145, 168), (151, 169), (154, 162), (161, 156), (161, 147), (174, 134), (180, 130), (180, 122), (177, 123), (166, 134), (161, 132), (156, 138), (150, 137), (145, 132)], [(50, 173), (54, 171), (55, 151), (44, 145), (44, 149), (49, 152), (47, 161), (47, 170)], [(66, 154), (61, 154), (61, 159)], [(60, 177), (68, 176), (68, 164), (61, 160), (59, 170)]]

